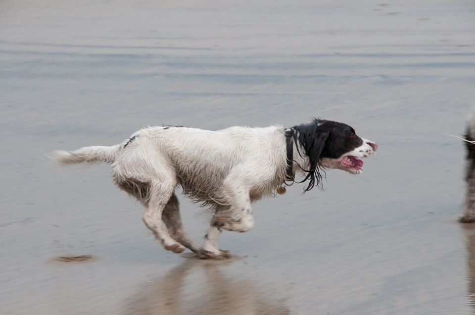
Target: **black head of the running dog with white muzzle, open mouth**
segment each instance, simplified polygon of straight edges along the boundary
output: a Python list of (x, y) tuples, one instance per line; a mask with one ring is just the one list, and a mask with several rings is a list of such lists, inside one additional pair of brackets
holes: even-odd
[(336, 168), (352, 174), (363, 170), (361, 158), (375, 154), (378, 145), (373, 141), (360, 138), (355, 130), (344, 123), (314, 119), (294, 127), (295, 138), (309, 159), (309, 169), (305, 180), (310, 190), (321, 180), (320, 168)]

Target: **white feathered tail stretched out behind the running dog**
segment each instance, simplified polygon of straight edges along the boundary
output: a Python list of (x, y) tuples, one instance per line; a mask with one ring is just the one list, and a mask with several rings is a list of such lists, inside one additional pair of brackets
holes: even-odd
[(58, 166), (77, 163), (113, 163), (120, 145), (112, 147), (84, 147), (76, 151), (54, 151), (49, 158)]

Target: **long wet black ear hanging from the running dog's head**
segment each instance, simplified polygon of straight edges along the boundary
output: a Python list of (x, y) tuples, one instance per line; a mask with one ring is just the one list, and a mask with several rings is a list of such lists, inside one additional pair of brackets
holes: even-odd
[(310, 162), (310, 168), (308, 170), (302, 169), (306, 174), (301, 183), (307, 180), (309, 181), (308, 186), (305, 188), (306, 192), (311, 190), (315, 185), (318, 185), (322, 179), (320, 175), (320, 159), (322, 158), (322, 152), (325, 149), (330, 131), (319, 129), (319, 122), (320, 120), (315, 119), (310, 123), (304, 123), (294, 127), (298, 132), (299, 145), (304, 150), (304, 154), (308, 157)]

